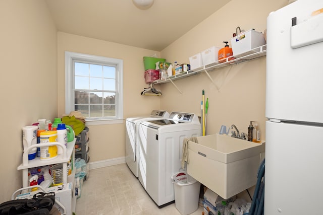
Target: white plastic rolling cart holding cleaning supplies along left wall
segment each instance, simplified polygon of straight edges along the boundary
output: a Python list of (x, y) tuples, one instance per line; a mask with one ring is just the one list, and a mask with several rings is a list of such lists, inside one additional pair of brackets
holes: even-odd
[[(28, 147), (24, 150), (22, 156), (22, 164), (18, 166), (18, 170), (22, 170), (22, 187), (28, 187), (28, 169), (34, 167), (47, 166), (52, 164), (63, 164), (63, 172), (66, 173), (63, 175), (63, 184), (72, 183), (74, 184), (75, 177), (75, 168), (73, 168), (72, 173), (68, 176), (67, 164), (70, 161), (72, 156), (72, 166), (74, 167), (75, 155), (74, 155), (74, 146), (75, 146), (76, 138), (73, 141), (68, 142), (67, 148), (65, 145), (60, 142), (46, 142), (42, 144), (35, 144)], [(34, 148), (38, 147), (49, 147), (49, 146), (57, 146), (63, 149), (63, 154), (58, 155), (56, 158), (51, 159), (49, 161), (41, 161), (40, 158), (36, 157), (33, 160), (28, 160), (28, 152)], [(74, 187), (74, 185), (72, 186)], [(26, 192), (27, 190), (22, 190), (22, 192)], [(72, 208), (72, 211), (75, 211), (76, 207), (76, 196), (74, 195), (74, 189), (72, 189), (72, 198), (70, 202), (61, 202), (65, 206), (65, 208)], [(67, 213), (67, 215), (70, 215)]]

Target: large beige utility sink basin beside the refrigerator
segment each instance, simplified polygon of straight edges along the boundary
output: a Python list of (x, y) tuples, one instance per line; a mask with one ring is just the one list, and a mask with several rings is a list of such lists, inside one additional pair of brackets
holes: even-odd
[(187, 173), (224, 199), (256, 184), (264, 158), (265, 143), (250, 142), (223, 134), (189, 141)]

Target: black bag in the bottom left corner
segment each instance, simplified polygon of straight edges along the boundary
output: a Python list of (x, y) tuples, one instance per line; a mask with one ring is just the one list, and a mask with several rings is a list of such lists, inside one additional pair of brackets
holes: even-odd
[(55, 204), (55, 193), (36, 193), (31, 199), (15, 199), (0, 204), (1, 215), (46, 215)]

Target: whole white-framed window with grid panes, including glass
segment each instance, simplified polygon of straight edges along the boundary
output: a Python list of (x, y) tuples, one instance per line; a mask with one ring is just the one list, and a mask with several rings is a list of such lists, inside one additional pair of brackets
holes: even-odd
[(65, 112), (86, 124), (123, 122), (123, 60), (65, 52)]

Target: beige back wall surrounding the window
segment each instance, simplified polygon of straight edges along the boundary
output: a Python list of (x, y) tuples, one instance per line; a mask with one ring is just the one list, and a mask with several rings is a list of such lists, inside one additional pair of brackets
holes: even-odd
[[(65, 113), (65, 51), (123, 59), (125, 119), (159, 109), (159, 98), (140, 95), (147, 86), (142, 57), (159, 52), (58, 32), (58, 116)], [(88, 127), (90, 162), (125, 157), (125, 123)]]

